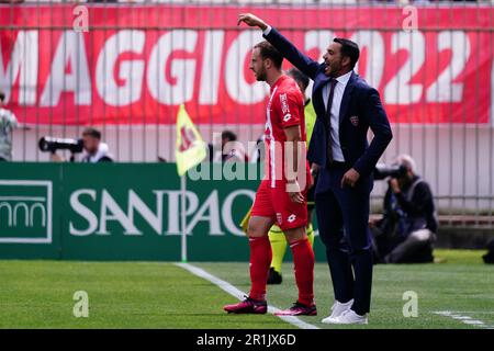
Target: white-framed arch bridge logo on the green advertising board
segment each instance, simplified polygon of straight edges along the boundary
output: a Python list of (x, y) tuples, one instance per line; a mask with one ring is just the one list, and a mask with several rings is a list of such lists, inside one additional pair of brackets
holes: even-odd
[(0, 180), (0, 242), (52, 242), (50, 181)]

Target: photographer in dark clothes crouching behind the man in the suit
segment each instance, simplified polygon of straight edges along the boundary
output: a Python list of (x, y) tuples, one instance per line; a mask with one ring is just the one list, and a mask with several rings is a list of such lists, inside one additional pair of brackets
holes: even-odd
[[(370, 225), (375, 261), (433, 262), (433, 244), (438, 227), (433, 193), (427, 182), (415, 174), (412, 157), (398, 156), (395, 166), (400, 169), (389, 178), (383, 218)], [(375, 173), (379, 179), (379, 169)]]

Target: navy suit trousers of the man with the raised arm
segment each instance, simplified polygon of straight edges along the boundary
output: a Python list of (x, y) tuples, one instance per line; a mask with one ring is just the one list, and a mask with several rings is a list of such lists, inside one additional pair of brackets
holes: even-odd
[(361, 178), (355, 188), (341, 189), (341, 178), (349, 168), (340, 163), (319, 170), (315, 204), (335, 298), (340, 303), (353, 298), (351, 309), (363, 315), (370, 309), (372, 286), (369, 203), (373, 179)]

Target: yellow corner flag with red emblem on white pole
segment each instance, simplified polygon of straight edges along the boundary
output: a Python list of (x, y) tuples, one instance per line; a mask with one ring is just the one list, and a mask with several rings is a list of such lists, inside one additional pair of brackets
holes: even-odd
[(206, 157), (205, 144), (201, 134), (195, 128), (186, 111), (186, 106), (180, 105), (177, 114), (177, 143), (175, 150), (177, 159), (177, 171), (183, 176), (194, 166), (201, 163)]

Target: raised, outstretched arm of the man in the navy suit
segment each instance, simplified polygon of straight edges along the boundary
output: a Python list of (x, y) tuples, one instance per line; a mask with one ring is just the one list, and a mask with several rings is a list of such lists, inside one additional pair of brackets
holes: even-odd
[(308, 78), (314, 79), (319, 68), (319, 64), (308, 56), (302, 54), (292, 43), (290, 43), (276, 29), (251, 13), (240, 13), (237, 25), (242, 22), (249, 26), (257, 26), (262, 30), (262, 36), (272, 44), (293, 66), (299, 68)]

